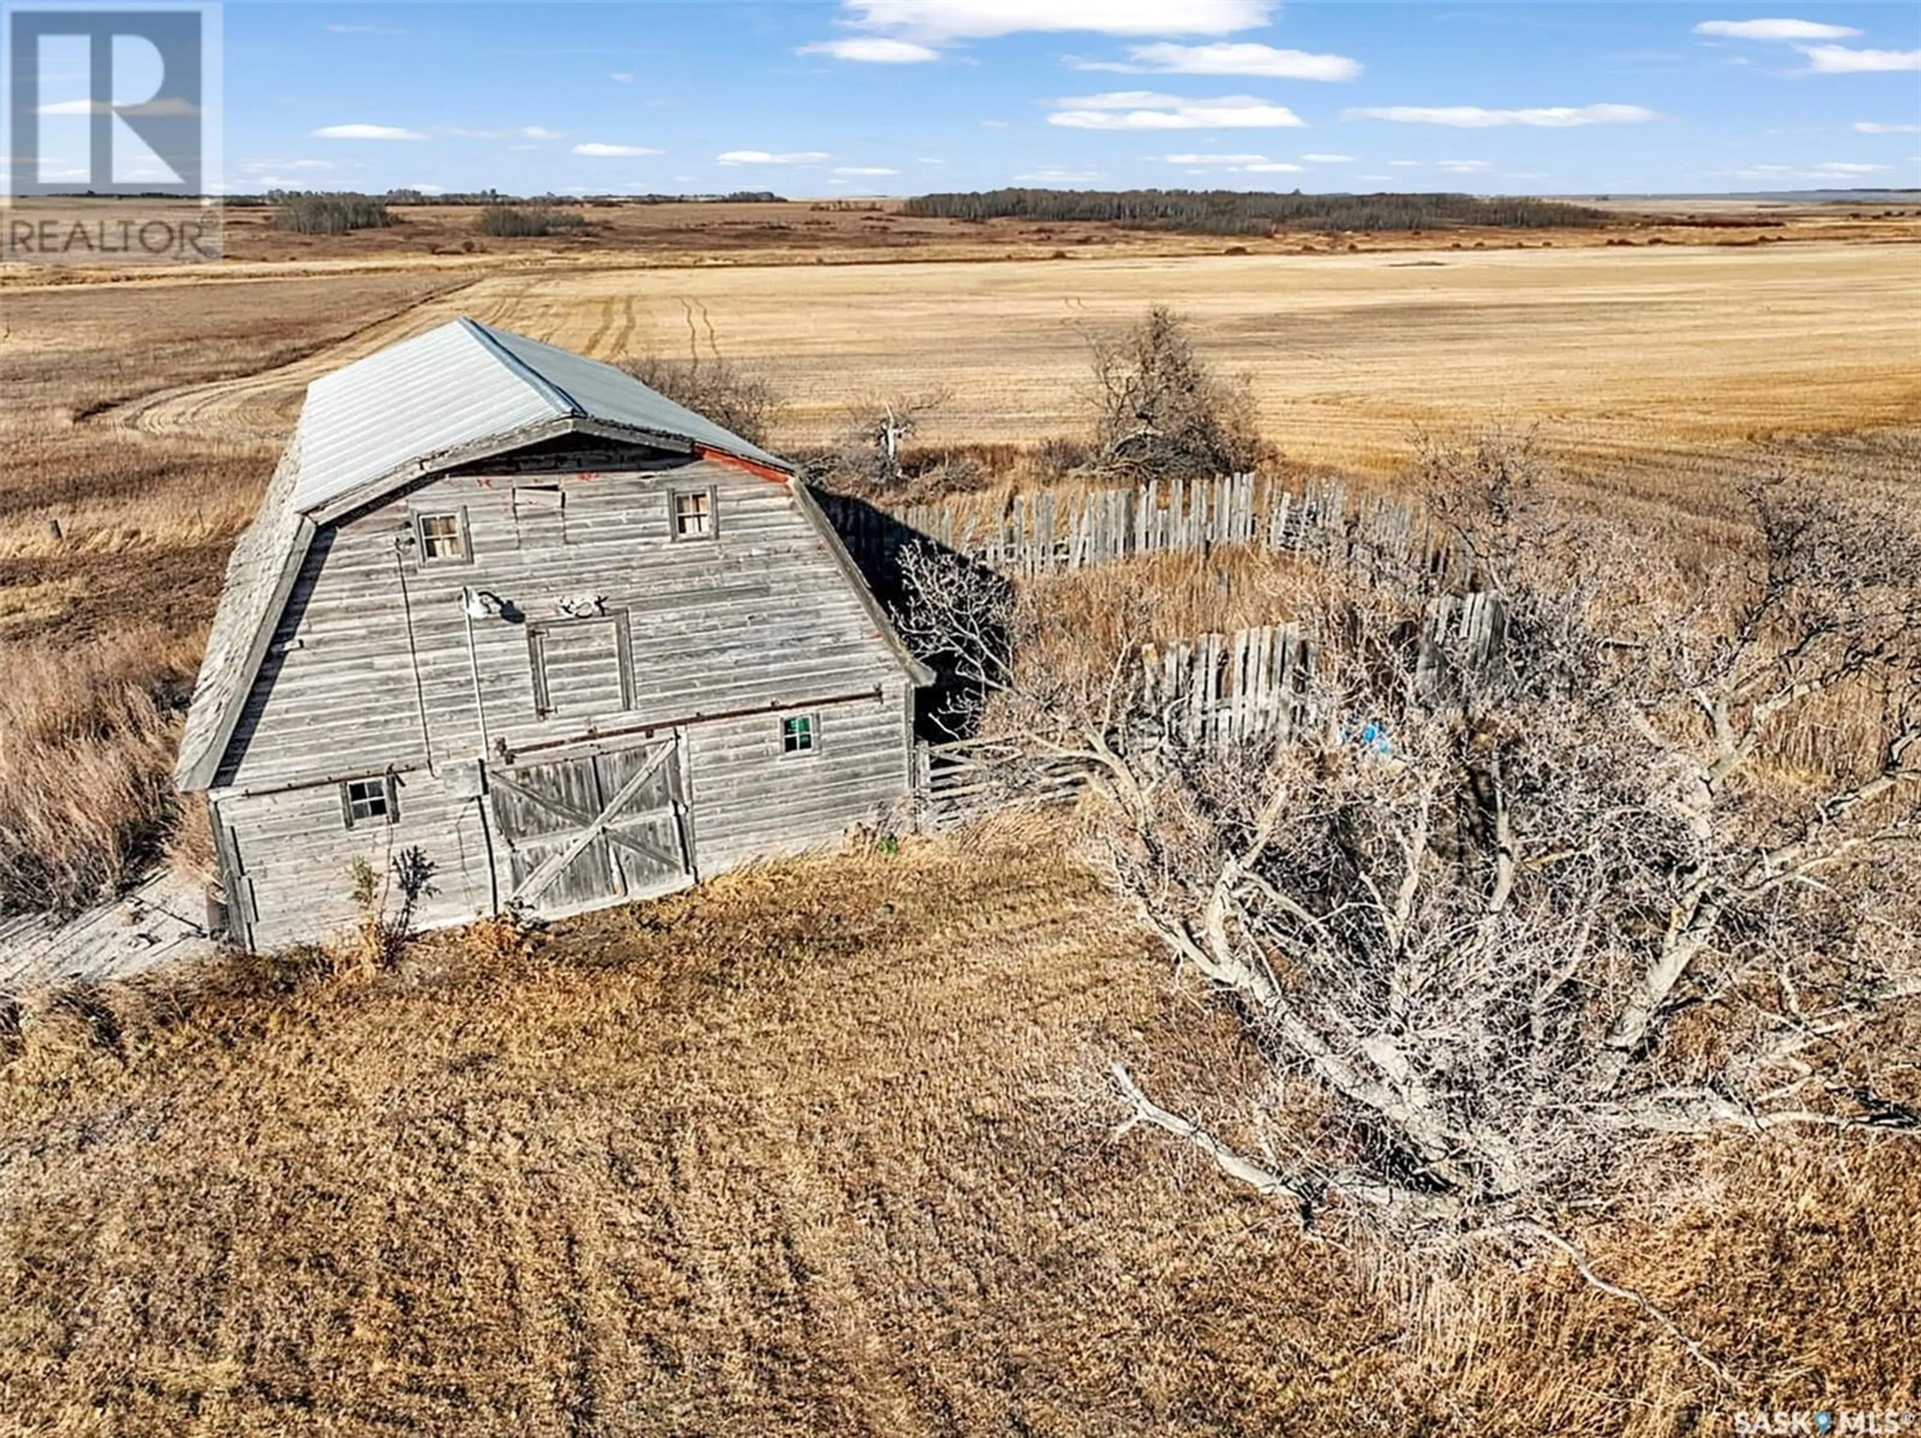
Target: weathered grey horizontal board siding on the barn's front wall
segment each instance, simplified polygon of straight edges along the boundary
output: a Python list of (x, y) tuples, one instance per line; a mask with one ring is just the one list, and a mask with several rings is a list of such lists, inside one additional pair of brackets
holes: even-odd
[[(672, 538), (672, 495), (688, 490), (713, 491), (711, 538)], [(425, 922), (486, 910), (482, 801), (457, 797), (482, 753), (482, 705), (496, 766), (501, 745), (534, 764), (582, 737), (684, 726), (701, 874), (828, 843), (903, 797), (909, 678), (797, 503), (732, 465), (669, 459), (440, 476), (323, 528), (213, 789), (252, 883), (254, 943), (350, 922), (348, 864), (361, 854), (378, 870), (388, 841), (436, 866)], [(463, 513), (471, 563), (423, 561), (419, 513)], [(463, 586), (505, 601), (505, 616), (471, 622), (473, 659)], [(571, 622), (563, 601), (586, 597), (619, 626)], [(815, 753), (782, 753), (782, 712), (818, 716)], [(348, 827), (338, 781), (390, 766), (401, 770), (392, 831)]]

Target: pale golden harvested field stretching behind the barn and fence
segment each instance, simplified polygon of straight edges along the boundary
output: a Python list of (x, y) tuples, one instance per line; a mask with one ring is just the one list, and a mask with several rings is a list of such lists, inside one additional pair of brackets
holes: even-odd
[[(367, 282), (334, 280), (346, 294)], [(450, 288), (292, 365), (96, 422), (275, 440), (309, 378), (465, 313), (601, 359), (753, 363), (790, 397), (790, 443), (832, 438), (864, 395), (930, 390), (951, 399), (924, 440), (1020, 443), (1080, 428), (1089, 332), (1166, 303), (1195, 321), (1210, 359), (1252, 378), (1287, 457), (1379, 474), (1416, 428), (1537, 426), (1552, 449), (1619, 455), (1909, 422), (1921, 413), (1917, 292), (1921, 246), (1836, 242), (530, 267)], [(202, 294), (202, 282), (142, 284), (138, 300), (169, 313)], [(77, 296), (12, 303), (35, 300), (63, 332)]]

